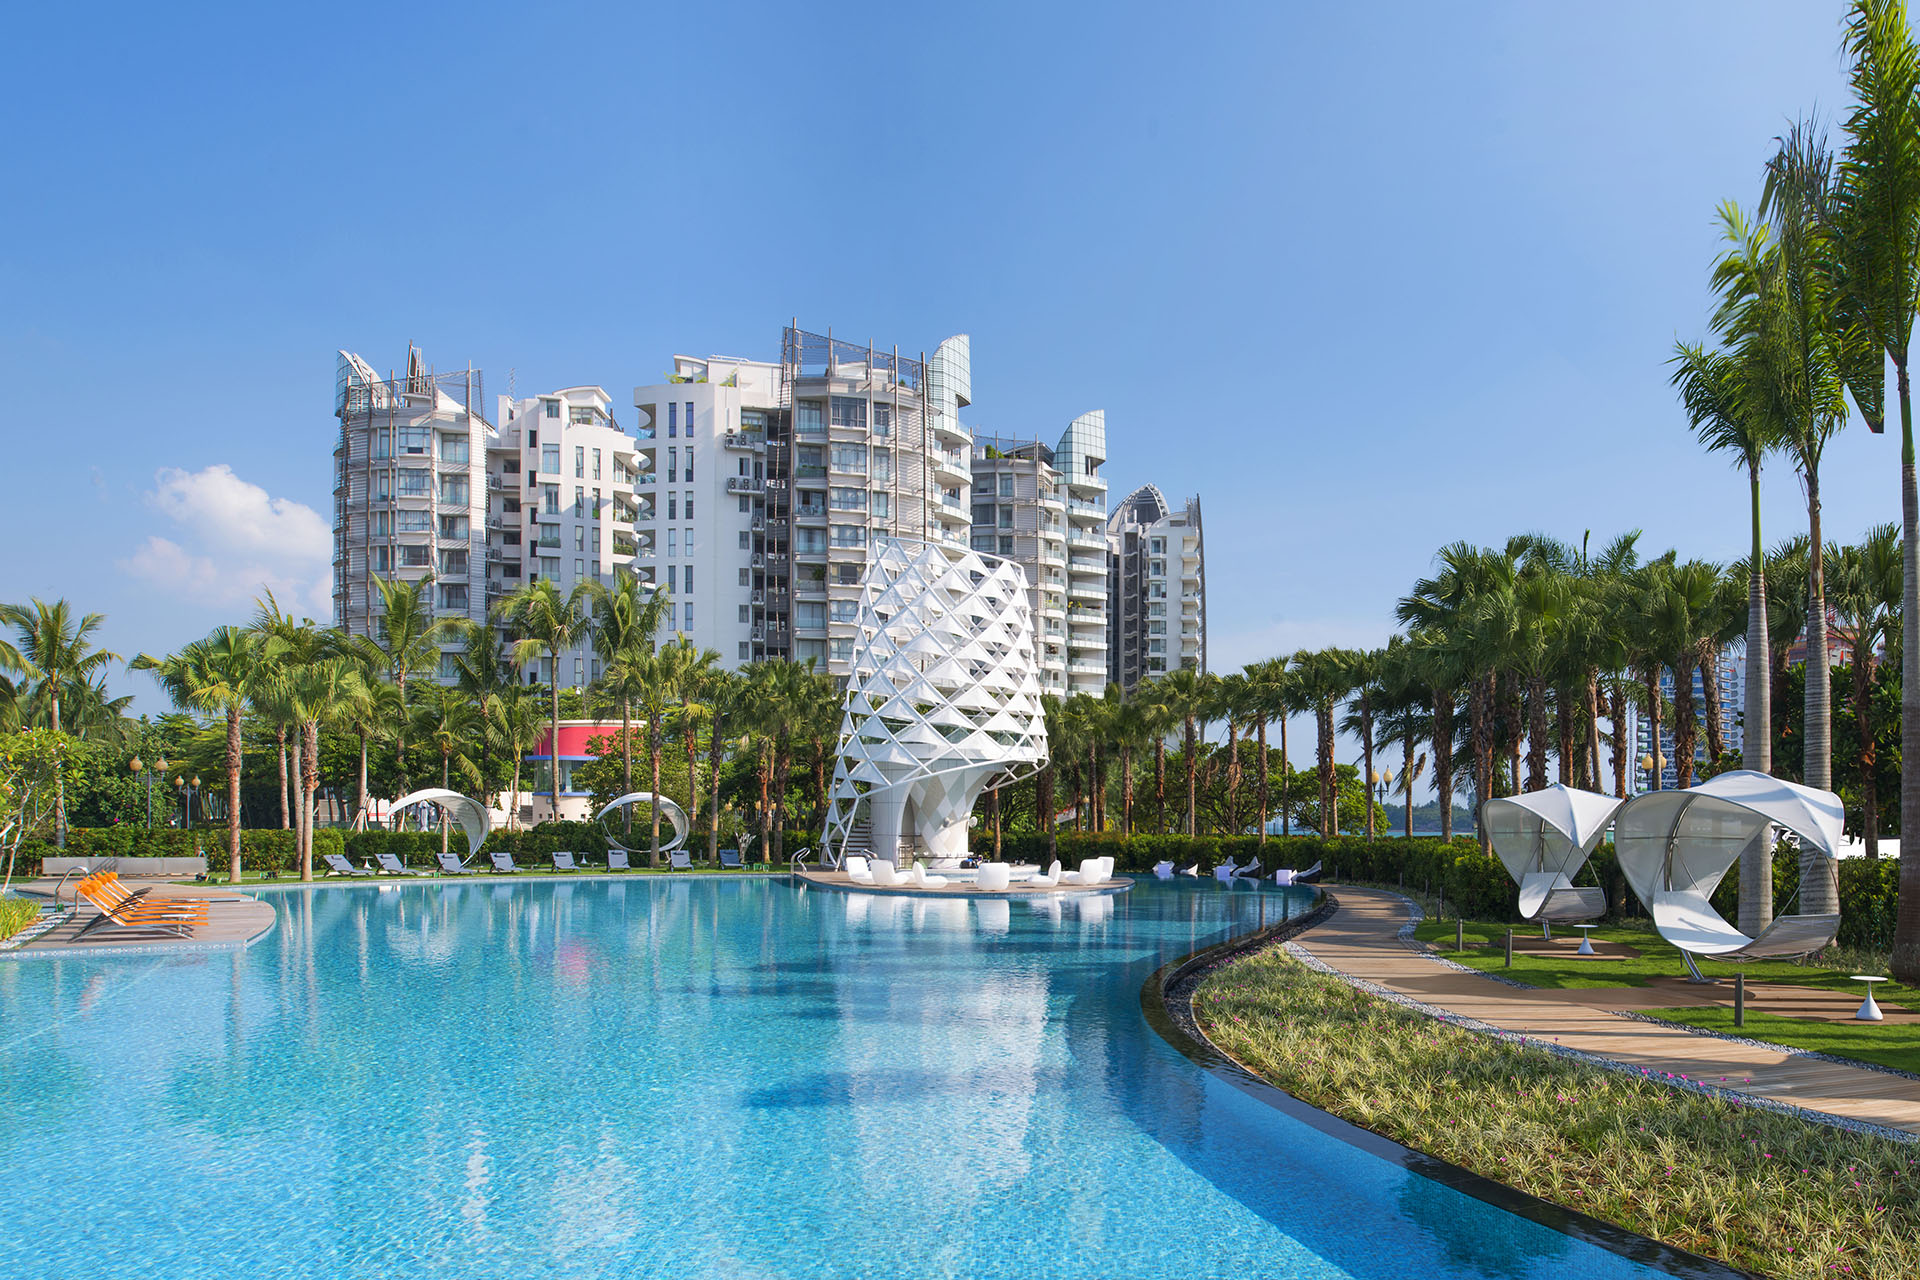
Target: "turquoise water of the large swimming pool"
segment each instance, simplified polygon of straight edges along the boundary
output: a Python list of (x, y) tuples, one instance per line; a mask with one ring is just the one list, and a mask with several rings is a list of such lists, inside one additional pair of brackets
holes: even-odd
[(1290, 896), (271, 894), (0, 961), (0, 1276), (1647, 1276), (1288, 1119), (1140, 983)]

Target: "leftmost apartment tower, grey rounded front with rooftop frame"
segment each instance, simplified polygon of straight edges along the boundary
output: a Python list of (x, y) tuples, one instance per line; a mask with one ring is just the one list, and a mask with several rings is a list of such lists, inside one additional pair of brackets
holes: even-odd
[[(374, 578), (434, 576), (438, 618), (486, 620), (488, 447), (480, 372), (434, 374), (407, 351), (382, 378), (340, 351), (334, 378), (334, 626), (374, 635)], [(442, 652), (442, 668), (447, 654)]]

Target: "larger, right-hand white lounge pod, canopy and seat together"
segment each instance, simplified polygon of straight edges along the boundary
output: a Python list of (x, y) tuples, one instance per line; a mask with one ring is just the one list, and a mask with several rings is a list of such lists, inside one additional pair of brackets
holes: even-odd
[(1772, 841), (1774, 827), (1799, 837), (1801, 848), (1834, 858), (1843, 810), (1832, 791), (1801, 787), (1755, 770), (1709, 777), (1688, 791), (1634, 796), (1615, 819), (1613, 846), (1626, 883), (1647, 908), (1653, 927), (1680, 948), (1699, 977), (1695, 956), (1776, 960), (1807, 956), (1839, 935), (1839, 913), (1776, 915), (1747, 936), (1713, 910), (1713, 890), (1740, 852)]

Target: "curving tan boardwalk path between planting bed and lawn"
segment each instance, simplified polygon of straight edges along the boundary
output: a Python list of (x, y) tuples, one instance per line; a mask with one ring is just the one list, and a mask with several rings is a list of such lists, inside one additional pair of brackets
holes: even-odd
[[(1655, 1027), (1611, 1011), (1730, 1004), (1730, 988), (1707, 988), (1707, 996), (1634, 986), (1521, 990), (1478, 973), (1461, 973), (1440, 963), (1425, 944), (1402, 938), (1407, 906), (1394, 894), (1342, 885), (1329, 885), (1329, 890), (1340, 900), (1338, 910), (1294, 942), (1338, 973), (1448, 1013), (1553, 1040), (1628, 1067), (1672, 1073), (1809, 1111), (1920, 1134), (1920, 1080)], [(1811, 988), (1786, 988), (1784, 996), (1768, 996), (1766, 988), (1749, 986), (1747, 994), (1759, 994), (1755, 1009), (1801, 1017), (1824, 1017), (1826, 1009), (1818, 1002), (1837, 1000), (1849, 1009), (1859, 1006), (1859, 996)]]

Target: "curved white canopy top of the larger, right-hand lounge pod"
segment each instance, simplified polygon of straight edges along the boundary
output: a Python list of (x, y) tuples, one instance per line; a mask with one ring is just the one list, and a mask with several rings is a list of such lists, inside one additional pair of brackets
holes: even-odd
[(1709, 777), (1688, 791), (1649, 791), (1622, 808), (1613, 827), (1620, 869), (1640, 900), (1661, 894), (1713, 896), (1740, 850), (1770, 827), (1786, 827), (1828, 858), (1839, 850), (1843, 810), (1832, 791), (1801, 787), (1755, 770)]

